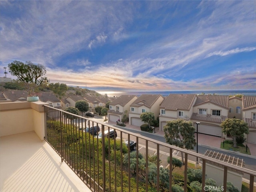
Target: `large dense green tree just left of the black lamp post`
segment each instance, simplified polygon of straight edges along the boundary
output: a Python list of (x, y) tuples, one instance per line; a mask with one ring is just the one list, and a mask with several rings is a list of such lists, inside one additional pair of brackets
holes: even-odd
[[(176, 145), (182, 149), (194, 149), (196, 139), (194, 138), (195, 128), (191, 121), (182, 119), (167, 121), (164, 125), (164, 137), (170, 145)], [(184, 163), (183, 153), (181, 153)]]

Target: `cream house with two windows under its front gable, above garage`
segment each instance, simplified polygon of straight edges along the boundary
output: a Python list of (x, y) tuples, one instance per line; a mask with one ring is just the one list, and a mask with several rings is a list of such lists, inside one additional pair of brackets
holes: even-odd
[(198, 95), (190, 118), (195, 128), (197, 128), (196, 121), (200, 122), (198, 133), (222, 137), (220, 123), (228, 118), (228, 104), (228, 96)]

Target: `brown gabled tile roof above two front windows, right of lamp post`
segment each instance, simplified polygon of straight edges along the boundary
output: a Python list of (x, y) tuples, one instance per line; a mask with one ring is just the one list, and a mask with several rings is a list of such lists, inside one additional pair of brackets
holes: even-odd
[(228, 100), (228, 96), (225, 95), (197, 95), (196, 103), (194, 106), (210, 102), (212, 104), (229, 109)]

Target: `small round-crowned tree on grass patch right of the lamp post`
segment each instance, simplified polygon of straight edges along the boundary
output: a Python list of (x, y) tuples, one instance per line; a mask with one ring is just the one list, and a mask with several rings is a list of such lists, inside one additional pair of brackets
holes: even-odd
[(222, 132), (233, 137), (234, 147), (236, 146), (236, 137), (249, 134), (248, 124), (244, 120), (228, 118), (220, 124)]

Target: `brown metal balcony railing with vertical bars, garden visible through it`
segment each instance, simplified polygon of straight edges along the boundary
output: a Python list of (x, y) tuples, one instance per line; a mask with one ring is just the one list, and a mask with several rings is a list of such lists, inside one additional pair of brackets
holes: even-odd
[[(227, 190), (228, 170), (249, 174), (249, 191), (253, 192), (255, 171), (49, 106), (44, 106), (44, 117), (45, 140), (92, 191), (172, 191), (172, 161), (170, 161), (168, 170), (169, 182), (163, 184), (160, 179), (160, 174), (162, 174), (160, 152), (164, 152), (172, 159), (172, 154), (176, 150), (184, 154), (185, 192), (188, 191), (187, 174), (190, 157), (198, 158), (202, 162), (202, 191), (204, 191), (206, 180), (206, 162), (210, 162), (218, 167), (224, 167), (224, 192)], [(102, 137), (98, 136), (97, 129), (96, 132), (93, 129), (93, 134), (86, 133), (86, 127), (94, 126), (100, 127)], [(108, 137), (112, 129), (116, 131), (117, 137)], [(123, 142), (124, 140), (128, 140), (128, 143), (131, 140), (136, 141), (136, 151), (131, 151), (130, 147)], [(139, 149), (140, 147), (142, 149)], [(141, 152), (144, 153), (143, 158)], [(156, 170), (154, 173), (149, 173), (152, 152), (156, 154)]]

